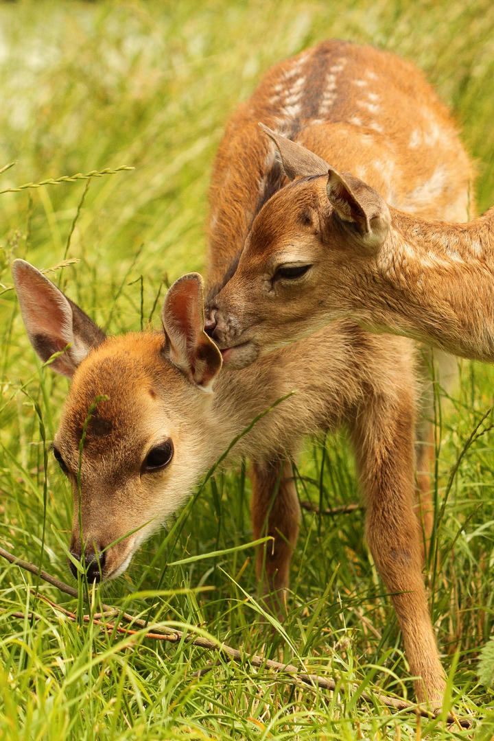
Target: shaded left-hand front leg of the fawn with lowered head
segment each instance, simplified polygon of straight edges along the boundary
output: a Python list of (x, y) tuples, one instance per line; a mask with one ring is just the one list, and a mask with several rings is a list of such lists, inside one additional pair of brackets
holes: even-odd
[(257, 576), (264, 594), (278, 592), (276, 599), (284, 605), (300, 523), (292, 466), (286, 460), (254, 462), (251, 479), (254, 537), (273, 537), (258, 549)]

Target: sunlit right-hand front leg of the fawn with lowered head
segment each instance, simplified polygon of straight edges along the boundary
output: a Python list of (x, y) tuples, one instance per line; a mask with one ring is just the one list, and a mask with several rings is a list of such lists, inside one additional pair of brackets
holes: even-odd
[(419, 701), (440, 703), (444, 671), (421, 574), (421, 534), (414, 512), (413, 402), (401, 395), (367, 399), (353, 431), (367, 500), (367, 541), (390, 592)]

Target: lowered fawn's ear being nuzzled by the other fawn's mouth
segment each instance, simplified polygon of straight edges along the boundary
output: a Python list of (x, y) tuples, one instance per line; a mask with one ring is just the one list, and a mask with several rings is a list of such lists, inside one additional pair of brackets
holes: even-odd
[(161, 320), (170, 361), (190, 382), (203, 391), (211, 391), (223, 359), (204, 332), (203, 283), (199, 273), (187, 273), (173, 283), (164, 299)]

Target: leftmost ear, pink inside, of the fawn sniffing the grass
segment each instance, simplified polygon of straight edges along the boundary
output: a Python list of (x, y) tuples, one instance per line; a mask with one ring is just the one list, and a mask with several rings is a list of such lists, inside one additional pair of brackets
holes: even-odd
[(14, 260), (12, 274), (31, 345), (43, 362), (62, 353), (50, 368), (71, 378), (104, 332), (29, 262)]

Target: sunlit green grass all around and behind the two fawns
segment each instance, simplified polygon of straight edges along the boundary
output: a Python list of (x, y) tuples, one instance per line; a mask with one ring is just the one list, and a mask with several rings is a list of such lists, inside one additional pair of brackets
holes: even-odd
[[(163, 282), (204, 268), (207, 185), (228, 114), (270, 64), (328, 36), (372, 42), (425, 70), (478, 162), (478, 207), (491, 205), (490, 0), (0, 4), (0, 167), (16, 162), (0, 174), (0, 190), (135, 168), (0, 195), (0, 542), (8, 550), (70, 581), (71, 497), (47, 451), (67, 382), (39, 371), (11, 290), (12, 259), (40, 268), (76, 259), (53, 273), (71, 298), (113, 333), (147, 325), (159, 312)], [(454, 672), (455, 708), (473, 713), (473, 727), (422, 720), (424, 738), (487, 741), (494, 733), (493, 688), (478, 681), (478, 653), (494, 617), (492, 416), (451, 477), (493, 403), (493, 382), (491, 368), (462, 365), (461, 387), (438, 429), (435, 477), (433, 620), (444, 665)], [(343, 435), (327, 439), (324, 455), (321, 440), (307, 442), (298, 488), (301, 499), (324, 506), (356, 501)], [(5, 562), (0, 739), (418, 738), (415, 716), (355, 693), (358, 686), (412, 694), (395, 617), (364, 544), (362, 512), (304, 513), (289, 614), (272, 635), (258, 621), (253, 549), (238, 550), (252, 540), (249, 494), (240, 464), (218, 474), (144, 545), (127, 574), (101, 589), (101, 599), (150, 625), (189, 626), (336, 677), (337, 693), (295, 687), (187, 642), (76, 625), (36, 599), (29, 588), (36, 577)], [(212, 551), (221, 554), (208, 558)], [(197, 558), (171, 565), (187, 556)], [(39, 591), (80, 613), (76, 599), (44, 584)], [(12, 615), (30, 611), (39, 619)], [(492, 674), (484, 671), (484, 681)]]

